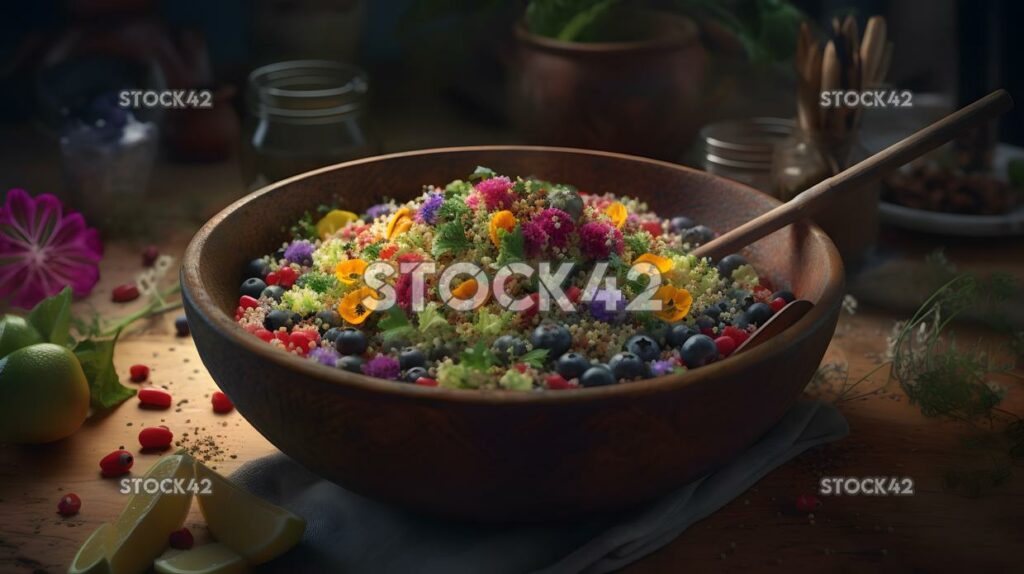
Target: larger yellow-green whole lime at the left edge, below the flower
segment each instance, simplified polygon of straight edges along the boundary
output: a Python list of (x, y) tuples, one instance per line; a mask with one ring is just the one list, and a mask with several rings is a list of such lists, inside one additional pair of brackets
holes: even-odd
[(0, 359), (0, 443), (70, 436), (89, 413), (89, 384), (65, 347), (39, 343)]

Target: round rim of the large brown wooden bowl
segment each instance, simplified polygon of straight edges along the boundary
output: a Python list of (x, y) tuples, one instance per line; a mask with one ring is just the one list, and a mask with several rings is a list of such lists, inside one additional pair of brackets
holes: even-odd
[[(840, 258), (836, 247), (833, 245), (831, 240), (824, 233), (824, 231), (822, 231), (813, 222), (805, 221), (804, 224), (808, 228), (806, 240), (811, 240), (812, 237), (817, 240), (824, 240), (825, 254), (834, 272), (829, 273), (827, 277), (820, 301), (815, 303), (814, 307), (799, 321), (797, 321), (797, 323), (792, 325), (790, 328), (786, 328), (781, 334), (743, 353), (741, 356), (729, 357), (722, 361), (715, 362), (700, 367), (699, 369), (693, 369), (682, 374), (667, 374), (664, 377), (646, 379), (633, 383), (623, 383), (606, 387), (580, 388), (564, 392), (523, 392), (509, 390), (447, 389), (443, 387), (404, 385), (393, 381), (385, 381), (373, 377), (367, 377), (365, 374), (348, 372), (339, 368), (332, 368), (292, 353), (283, 353), (281, 350), (267, 345), (260, 339), (253, 337), (248, 332), (240, 327), (238, 323), (234, 322), (233, 318), (223, 312), (218, 307), (216, 302), (213, 301), (210, 295), (203, 289), (204, 279), (200, 273), (200, 260), (203, 256), (204, 249), (206, 248), (210, 234), (217, 225), (230, 217), (232, 213), (264, 194), (272, 193), (274, 190), (286, 187), (295, 181), (311, 178), (333, 170), (345, 169), (350, 166), (416, 156), (429, 156), (445, 152), (472, 153), (478, 151), (530, 151), (585, 154), (596, 158), (639, 162), (660, 168), (684, 172), (695, 172), (700, 174), (701, 177), (725, 179), (690, 167), (670, 162), (663, 162), (659, 160), (651, 160), (648, 158), (616, 153), (612, 151), (540, 145), (473, 145), (435, 147), (374, 156), (371, 158), (364, 158), (341, 164), (325, 166), (323, 168), (310, 170), (281, 181), (276, 181), (237, 200), (210, 218), (210, 220), (196, 232), (185, 250), (179, 273), (181, 295), (184, 300), (186, 310), (191, 310), (195, 314), (199, 315), (199, 317), (206, 322), (206, 324), (217, 336), (226, 339), (229, 343), (242, 347), (244, 350), (254, 353), (262, 359), (269, 360), (280, 366), (294, 370), (297, 374), (308, 377), (318, 383), (329, 385), (331, 387), (347, 387), (352, 390), (383, 393), (412, 400), (440, 401), (462, 404), (471, 403), (478, 405), (527, 403), (536, 405), (603, 401), (607, 399), (615, 399), (626, 395), (638, 396), (655, 394), (669, 390), (677, 390), (678, 388), (689, 385), (705, 384), (723, 376), (727, 377), (735, 373), (736, 371), (743, 370), (746, 366), (759, 362), (760, 360), (771, 355), (784, 353), (792, 344), (806, 337), (807, 334), (810, 333), (812, 326), (817, 326), (819, 323), (827, 321), (829, 315), (840, 307), (845, 281), (842, 259)], [(770, 200), (771, 203), (781, 204), (778, 200), (766, 195), (749, 185), (732, 180), (728, 181), (730, 185), (736, 185), (748, 189), (750, 192), (762, 194), (766, 198)]]

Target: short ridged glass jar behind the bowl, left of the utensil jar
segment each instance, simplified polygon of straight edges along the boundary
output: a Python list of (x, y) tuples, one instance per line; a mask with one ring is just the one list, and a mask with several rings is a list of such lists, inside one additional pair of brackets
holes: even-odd
[(796, 129), (792, 120), (751, 118), (716, 122), (700, 130), (703, 169), (774, 194), (775, 146)]

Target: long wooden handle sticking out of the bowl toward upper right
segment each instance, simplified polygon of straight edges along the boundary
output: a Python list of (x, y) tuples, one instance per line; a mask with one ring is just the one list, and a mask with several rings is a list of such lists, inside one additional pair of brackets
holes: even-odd
[[(827, 49), (825, 53), (828, 53)], [(806, 189), (770, 212), (698, 247), (693, 251), (693, 255), (719, 259), (730, 253), (735, 253), (776, 229), (812, 215), (830, 197), (847, 192), (856, 193), (866, 183), (935, 149), (965, 129), (983, 124), (1013, 106), (1014, 100), (1010, 97), (1010, 93), (1001, 89), (996, 90), (859, 164)]]

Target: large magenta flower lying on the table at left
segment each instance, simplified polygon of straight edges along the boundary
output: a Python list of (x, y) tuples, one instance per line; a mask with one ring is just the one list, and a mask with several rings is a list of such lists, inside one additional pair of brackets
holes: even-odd
[(71, 285), (85, 297), (99, 280), (103, 247), (82, 214), (49, 193), (11, 189), (0, 208), (0, 297), (31, 309)]

